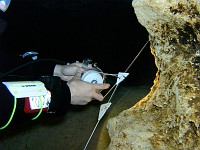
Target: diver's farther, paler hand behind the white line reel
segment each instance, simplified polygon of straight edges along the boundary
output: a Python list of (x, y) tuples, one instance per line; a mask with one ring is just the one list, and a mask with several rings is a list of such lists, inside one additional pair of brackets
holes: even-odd
[[(84, 71), (91, 69), (92, 65), (89, 64), (86, 68), (82, 67), (82, 63), (72, 63), (69, 65), (56, 65), (54, 69), (54, 76), (58, 76), (63, 81), (71, 80), (77, 72), (83, 73)], [(80, 77), (79, 76), (79, 77)]]

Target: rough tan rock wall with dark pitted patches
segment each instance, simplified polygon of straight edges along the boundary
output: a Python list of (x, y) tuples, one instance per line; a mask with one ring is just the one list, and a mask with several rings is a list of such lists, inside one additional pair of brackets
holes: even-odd
[(108, 121), (108, 149), (200, 149), (200, 1), (132, 4), (158, 72), (147, 96)]

